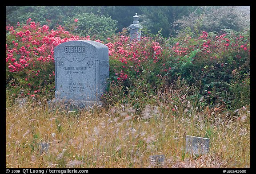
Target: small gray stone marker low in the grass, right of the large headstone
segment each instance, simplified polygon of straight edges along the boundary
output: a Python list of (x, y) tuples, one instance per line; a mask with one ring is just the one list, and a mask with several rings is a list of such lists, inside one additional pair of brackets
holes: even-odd
[(209, 151), (210, 139), (196, 136), (186, 136), (186, 152), (194, 155), (204, 155)]

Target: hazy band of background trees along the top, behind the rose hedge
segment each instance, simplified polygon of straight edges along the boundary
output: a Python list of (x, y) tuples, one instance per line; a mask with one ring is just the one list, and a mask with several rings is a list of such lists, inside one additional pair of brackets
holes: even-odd
[[(229, 8), (231, 7), (231, 8)], [(132, 16), (138, 13), (144, 33), (163, 37), (176, 36), (185, 27), (194, 30), (221, 31), (222, 29), (243, 29), (247, 25), (246, 16), (233, 6), (6, 6), (6, 25), (25, 23), (28, 18), (41, 25), (56, 29), (67, 19), (77, 15), (95, 14), (117, 21), (116, 30), (132, 24)], [(246, 20), (245, 20), (246, 19)], [(244, 20), (244, 22), (243, 22)], [(246, 24), (246, 25), (245, 25)], [(95, 26), (97, 27), (97, 26)]]

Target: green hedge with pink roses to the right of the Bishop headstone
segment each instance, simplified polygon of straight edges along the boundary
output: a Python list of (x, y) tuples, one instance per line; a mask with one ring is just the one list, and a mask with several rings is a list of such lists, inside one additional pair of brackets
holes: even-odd
[[(112, 104), (130, 103), (139, 110), (148, 102), (157, 102), (153, 96), (174, 85), (173, 90), (178, 92), (172, 94), (172, 99), (168, 99), (173, 103), (173, 108), (175, 104), (180, 105), (180, 98), (184, 95), (188, 95), (187, 99), (199, 109), (220, 104), (233, 109), (249, 104), (250, 78), (249, 75), (242, 75), (250, 70), (249, 32), (225, 30), (221, 34), (203, 32), (200, 35), (187, 28), (182, 35), (168, 40), (163, 39), (160, 32), (151, 35), (153, 42), (157, 40), (161, 43), (158, 61), (154, 61), (154, 54), (151, 54), (152, 57), (140, 62), (139, 68), (134, 71), (131, 68), (134, 67), (132, 62), (123, 64), (114, 55), (110, 56), (110, 65), (113, 66), (110, 67), (111, 93), (104, 97), (106, 101), (111, 99)], [(143, 39), (136, 44), (136, 51), (140, 51), (141, 45), (144, 48), (149, 46)], [(123, 49), (130, 51), (129, 47)], [(150, 49), (147, 47), (146, 50)], [(120, 71), (127, 74), (128, 78), (118, 81), (119, 76), (116, 74)], [(244, 85), (241, 85), (242, 81)]]

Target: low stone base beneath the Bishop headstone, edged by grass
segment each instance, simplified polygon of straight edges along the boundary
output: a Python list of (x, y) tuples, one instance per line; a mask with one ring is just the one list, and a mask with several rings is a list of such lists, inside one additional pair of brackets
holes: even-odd
[(52, 99), (48, 101), (48, 108), (62, 108), (62, 109), (82, 109), (92, 108), (93, 106), (102, 106), (102, 101), (78, 101), (78, 100), (64, 100), (64, 99)]

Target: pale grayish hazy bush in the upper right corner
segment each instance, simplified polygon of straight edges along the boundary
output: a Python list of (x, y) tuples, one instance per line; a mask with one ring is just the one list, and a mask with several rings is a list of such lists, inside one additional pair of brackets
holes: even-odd
[(221, 32), (223, 29), (242, 31), (250, 27), (250, 14), (237, 6), (200, 6), (200, 13), (192, 12), (177, 19), (173, 25), (179, 31), (190, 27), (192, 31)]

